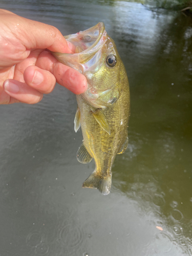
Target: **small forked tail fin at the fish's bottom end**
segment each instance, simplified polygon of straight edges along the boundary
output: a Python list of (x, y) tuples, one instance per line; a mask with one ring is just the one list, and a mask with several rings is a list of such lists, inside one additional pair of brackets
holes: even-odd
[(82, 187), (97, 188), (103, 195), (110, 194), (112, 175), (101, 177), (96, 172), (93, 172), (87, 180), (82, 184)]

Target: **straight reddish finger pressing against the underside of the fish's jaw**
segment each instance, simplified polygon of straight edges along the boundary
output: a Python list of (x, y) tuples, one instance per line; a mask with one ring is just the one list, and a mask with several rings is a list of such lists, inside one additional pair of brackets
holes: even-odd
[(36, 66), (51, 72), (56, 81), (75, 94), (86, 92), (87, 79), (75, 69), (59, 62), (50, 52), (43, 51), (38, 56)]

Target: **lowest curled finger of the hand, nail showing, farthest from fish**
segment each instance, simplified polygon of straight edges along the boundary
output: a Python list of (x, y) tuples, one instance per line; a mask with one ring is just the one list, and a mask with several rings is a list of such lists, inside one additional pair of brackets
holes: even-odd
[(11, 98), (9, 103), (23, 102), (28, 104), (35, 104), (39, 102), (43, 94), (31, 88), (24, 82), (8, 79), (3, 84), (4, 92)]

